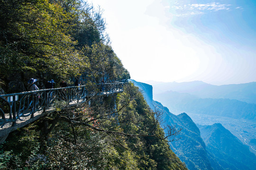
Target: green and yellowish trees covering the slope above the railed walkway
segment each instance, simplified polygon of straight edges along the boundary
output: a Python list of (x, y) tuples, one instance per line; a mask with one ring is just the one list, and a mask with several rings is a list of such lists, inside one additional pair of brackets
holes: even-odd
[(0, 6), (0, 77), (6, 85), (9, 73), (43, 84), (130, 77), (107, 45), (100, 8), (80, 0), (0, 0)]

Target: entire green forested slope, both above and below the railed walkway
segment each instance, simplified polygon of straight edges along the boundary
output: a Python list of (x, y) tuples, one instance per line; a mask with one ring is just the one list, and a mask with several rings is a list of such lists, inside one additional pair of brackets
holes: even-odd
[[(80, 0), (0, 0), (0, 90), (27, 90), (37, 78), (96, 84), (130, 76), (112, 50), (101, 9)], [(0, 169), (186, 170), (170, 149), (138, 88), (92, 96), (9, 134), (0, 144)]]

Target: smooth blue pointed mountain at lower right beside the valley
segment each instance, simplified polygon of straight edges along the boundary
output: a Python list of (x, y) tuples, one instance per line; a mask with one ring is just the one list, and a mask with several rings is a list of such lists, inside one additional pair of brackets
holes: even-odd
[(256, 156), (221, 124), (198, 125), (206, 149), (223, 169), (255, 170)]

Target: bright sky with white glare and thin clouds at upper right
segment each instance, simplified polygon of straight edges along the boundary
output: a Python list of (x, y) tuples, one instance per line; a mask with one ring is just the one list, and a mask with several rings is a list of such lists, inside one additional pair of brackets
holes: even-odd
[(256, 81), (256, 0), (88, 0), (131, 78)]

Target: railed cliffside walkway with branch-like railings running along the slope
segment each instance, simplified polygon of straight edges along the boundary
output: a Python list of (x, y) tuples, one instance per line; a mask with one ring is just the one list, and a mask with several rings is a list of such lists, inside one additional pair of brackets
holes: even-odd
[(0, 143), (11, 131), (23, 127), (55, 109), (55, 105), (67, 107), (83, 103), (93, 96), (123, 92), (124, 83), (98, 84), (87, 91), (85, 85), (43, 89), (0, 95)]

